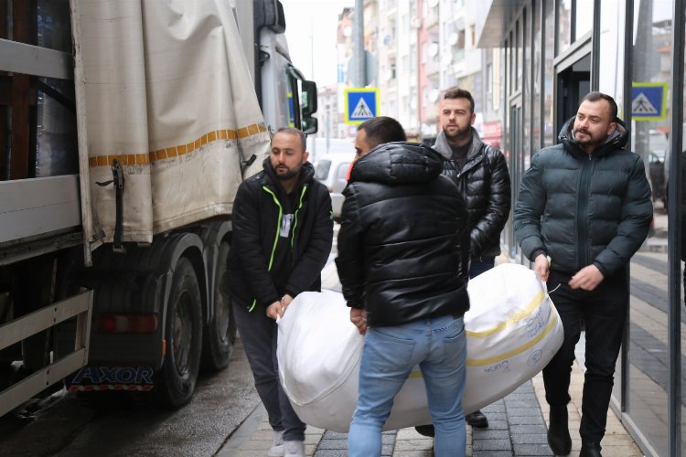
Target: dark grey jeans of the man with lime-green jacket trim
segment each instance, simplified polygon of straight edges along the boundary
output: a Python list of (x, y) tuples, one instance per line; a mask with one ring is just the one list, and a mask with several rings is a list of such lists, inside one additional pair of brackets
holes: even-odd
[(284, 430), (284, 441), (304, 441), (305, 424), (297, 417), (279, 382), (276, 360), (276, 322), (267, 317), (261, 306), (248, 312), (245, 303), (233, 301), (233, 315), (248, 363), (255, 379), (257, 394), (275, 431)]

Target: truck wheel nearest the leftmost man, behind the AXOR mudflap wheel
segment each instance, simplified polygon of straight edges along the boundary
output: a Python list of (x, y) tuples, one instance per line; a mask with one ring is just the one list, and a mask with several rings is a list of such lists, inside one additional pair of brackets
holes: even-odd
[(233, 307), (227, 292), (229, 244), (220, 244), (217, 259), (217, 277), (214, 282), (214, 315), (203, 332), (202, 366), (209, 371), (219, 371), (229, 365), (229, 358), (236, 341), (236, 323), (233, 321)]

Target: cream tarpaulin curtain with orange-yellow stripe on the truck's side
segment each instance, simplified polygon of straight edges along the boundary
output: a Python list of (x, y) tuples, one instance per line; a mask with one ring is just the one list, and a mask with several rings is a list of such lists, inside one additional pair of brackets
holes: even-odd
[(241, 159), (259, 171), (269, 133), (226, 0), (71, 3), (87, 239), (113, 240), (114, 188), (96, 183), (115, 158), (124, 241), (229, 214)]

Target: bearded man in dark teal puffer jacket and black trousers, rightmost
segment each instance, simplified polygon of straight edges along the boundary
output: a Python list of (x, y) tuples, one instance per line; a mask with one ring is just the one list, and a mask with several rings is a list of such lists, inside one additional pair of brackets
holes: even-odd
[(627, 265), (648, 236), (653, 216), (645, 167), (638, 154), (624, 149), (628, 138), (612, 97), (590, 92), (564, 124), (561, 143), (531, 158), (514, 209), (521, 250), (554, 291), (563, 321), (563, 345), (543, 368), (548, 444), (555, 455), (572, 449), (567, 403), (582, 321), (586, 372), (579, 455), (601, 455), (627, 319)]

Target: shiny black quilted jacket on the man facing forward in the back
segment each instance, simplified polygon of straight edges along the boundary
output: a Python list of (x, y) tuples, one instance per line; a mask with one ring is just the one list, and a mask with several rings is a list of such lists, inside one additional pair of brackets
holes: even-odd
[(445, 158), (443, 174), (455, 181), (466, 201), (472, 257), (498, 256), (500, 232), (508, 222), (512, 205), (505, 156), (498, 148), (482, 143), (474, 129), (472, 145), (461, 170), (452, 160), (453, 151), (445, 133), (438, 134), (434, 149)]

